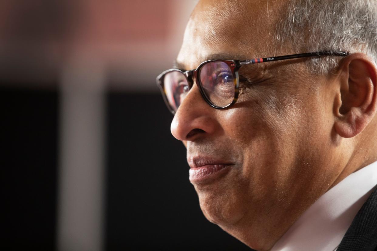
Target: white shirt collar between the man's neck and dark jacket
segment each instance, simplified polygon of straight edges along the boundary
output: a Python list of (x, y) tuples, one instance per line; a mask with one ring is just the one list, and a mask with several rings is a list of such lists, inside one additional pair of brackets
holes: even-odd
[(271, 251), (334, 251), (377, 184), (377, 161), (323, 194)]

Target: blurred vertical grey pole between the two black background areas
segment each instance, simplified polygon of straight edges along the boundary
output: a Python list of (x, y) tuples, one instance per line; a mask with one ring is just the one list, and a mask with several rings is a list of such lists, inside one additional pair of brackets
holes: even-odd
[(101, 251), (104, 244), (105, 74), (96, 53), (82, 51), (61, 78), (59, 251)]

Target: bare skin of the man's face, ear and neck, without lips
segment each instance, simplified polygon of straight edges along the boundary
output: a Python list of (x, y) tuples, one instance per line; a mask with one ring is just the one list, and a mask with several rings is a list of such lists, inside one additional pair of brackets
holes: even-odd
[[(274, 38), (286, 4), (200, 1), (178, 65), (307, 52)], [(353, 53), (328, 75), (309, 73), (305, 60), (242, 66), (239, 100), (225, 110), (209, 106), (194, 84), (172, 121), (189, 164), (229, 165), (224, 175), (192, 182), (205, 217), (256, 250), (271, 249), (323, 193), (377, 160), (372, 59)]]

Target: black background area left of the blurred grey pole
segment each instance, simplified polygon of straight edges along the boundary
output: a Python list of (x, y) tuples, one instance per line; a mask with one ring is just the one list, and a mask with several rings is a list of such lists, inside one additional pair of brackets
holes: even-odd
[(2, 87), (0, 104), (0, 248), (53, 250), (58, 94)]

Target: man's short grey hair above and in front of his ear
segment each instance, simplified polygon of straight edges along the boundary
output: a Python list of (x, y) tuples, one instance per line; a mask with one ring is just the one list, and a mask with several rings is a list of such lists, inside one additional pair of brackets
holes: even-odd
[[(377, 62), (377, 0), (290, 0), (277, 26), (277, 40), (299, 52), (363, 52)], [(308, 60), (308, 69), (325, 74), (334, 56)]]

